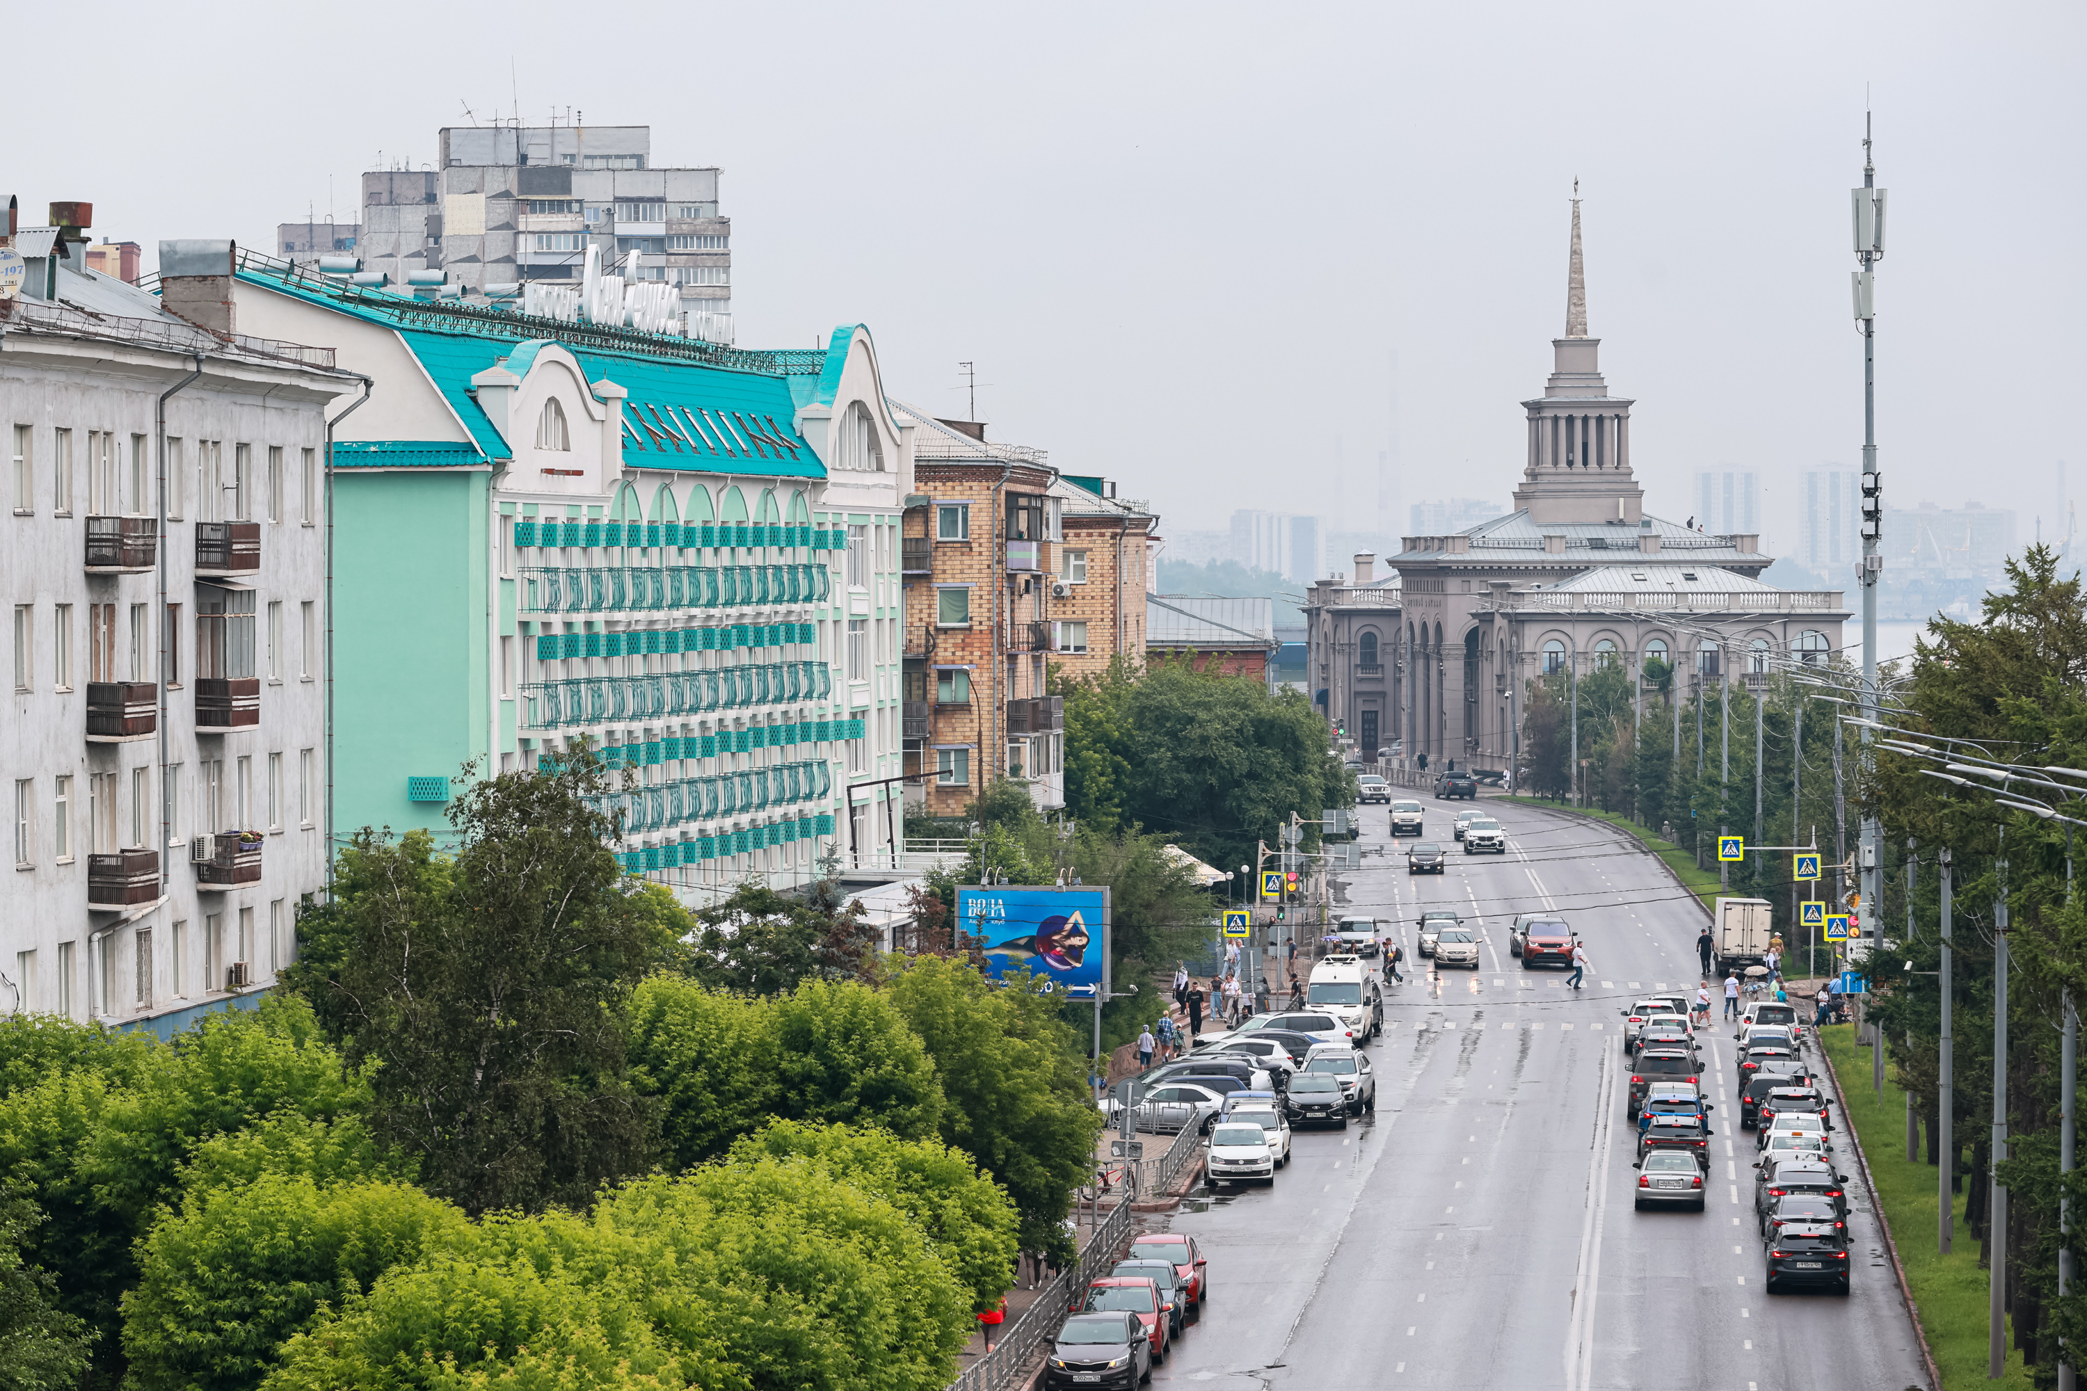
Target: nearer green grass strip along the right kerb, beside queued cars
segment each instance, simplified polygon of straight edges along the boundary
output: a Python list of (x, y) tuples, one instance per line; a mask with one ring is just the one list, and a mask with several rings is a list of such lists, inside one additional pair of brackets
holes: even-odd
[[(1853, 1024), (1834, 1024), (1822, 1034), (1847, 1103), (1847, 1114), (1837, 1116), (1834, 1124), (1853, 1124), (1855, 1134), (1862, 1137), (1862, 1153), (1870, 1162), (1876, 1197), (1891, 1222), (1891, 1239), (1899, 1247), (1905, 1285), (1914, 1291), (1920, 1326), (1928, 1335), (1928, 1349), (1943, 1374), (1943, 1387), (2031, 1391), (2033, 1383), (2022, 1366), (2022, 1353), (2012, 1347), (2008, 1374), (2001, 1381), (1985, 1378), (1989, 1287), (1987, 1272), (1978, 1266), (1978, 1239), (1964, 1224), (1964, 1195), (1960, 1193), (1956, 1197), (1953, 1251), (1949, 1255), (1935, 1251), (1941, 1176), (1924, 1160), (1905, 1162), (1905, 1093), (1887, 1072), (1885, 1095), (1876, 1095), (1870, 1087), (1870, 1049), (1855, 1047)], [(1855, 1174), (1855, 1155), (1845, 1155), (1843, 1166)], [(1887, 1272), (1870, 1270), (1870, 1278), (1887, 1278)], [(2008, 1341), (2014, 1341), (2012, 1331)]]

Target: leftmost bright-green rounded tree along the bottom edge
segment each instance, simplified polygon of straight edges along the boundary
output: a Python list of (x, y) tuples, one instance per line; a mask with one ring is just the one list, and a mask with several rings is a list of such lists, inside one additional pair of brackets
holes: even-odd
[(463, 1212), (399, 1182), (309, 1174), (196, 1187), (140, 1243), (123, 1295), (138, 1391), (248, 1391), (326, 1305), (467, 1230)]

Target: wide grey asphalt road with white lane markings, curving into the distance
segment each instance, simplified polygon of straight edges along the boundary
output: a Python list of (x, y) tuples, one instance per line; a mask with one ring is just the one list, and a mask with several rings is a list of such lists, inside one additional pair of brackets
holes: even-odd
[[(1428, 801), (1428, 838), (1455, 847), (1455, 809)], [(1761, 1289), (1730, 1028), (1707, 1032), (1707, 1212), (1632, 1210), (1620, 1011), (1638, 989), (1699, 980), (1701, 913), (1607, 826), (1488, 809), (1509, 853), (1453, 849), (1440, 878), (1380, 855), (1388, 817), (1367, 809), (1367, 868), (1338, 882), (1338, 903), (1398, 920), (1421, 966), (1386, 993), (1377, 1114), (1300, 1132), (1271, 1189), (1183, 1205), (1173, 1230), (1206, 1247), (1210, 1303), (1154, 1385), (1924, 1387), (1851, 1153), (1853, 1293)], [(1438, 903), (1482, 926), (1476, 974), (1438, 978), (1413, 955), (1413, 920)], [(1509, 920), (1538, 907), (1586, 941), (1584, 991), (1509, 955)]]

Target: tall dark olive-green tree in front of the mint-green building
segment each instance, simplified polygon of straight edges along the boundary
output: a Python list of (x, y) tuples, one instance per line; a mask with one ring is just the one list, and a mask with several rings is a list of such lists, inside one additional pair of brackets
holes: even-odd
[[(440, 872), (407, 838), (355, 836), (317, 989), (374, 1070), (378, 1134), (467, 1212), (582, 1203), (649, 1162), (624, 1076), (624, 1009), (687, 918), (605, 849), (601, 765), (482, 780), (451, 805)], [(338, 924), (338, 926), (334, 926)]]

